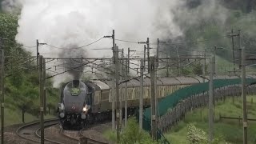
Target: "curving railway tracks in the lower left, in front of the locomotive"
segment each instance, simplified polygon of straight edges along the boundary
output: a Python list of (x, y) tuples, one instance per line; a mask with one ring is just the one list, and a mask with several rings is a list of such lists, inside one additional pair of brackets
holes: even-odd
[[(58, 128), (56, 128), (56, 132), (54, 132), (54, 134), (50, 133), (47, 135), (46, 128), (54, 127), (54, 125), (57, 125), (57, 124), (58, 124), (57, 118), (49, 119), (44, 122), (45, 143), (73, 144), (73, 143), (78, 143), (80, 138), (82, 138), (81, 140), (84, 141), (86, 139), (86, 142), (88, 144), (106, 144), (106, 142), (99, 142), (92, 138), (86, 138), (86, 136), (83, 135), (83, 130), (80, 130), (77, 132), (77, 131), (59, 130)], [(26, 139), (29, 142), (40, 143), (40, 138), (41, 138), (40, 130), (41, 130), (40, 122), (31, 122), (29, 124), (19, 127), (16, 130), (16, 134), (18, 134), (20, 138)], [(73, 136), (70, 136), (69, 134), (66, 134), (66, 133), (71, 133), (73, 134)]]

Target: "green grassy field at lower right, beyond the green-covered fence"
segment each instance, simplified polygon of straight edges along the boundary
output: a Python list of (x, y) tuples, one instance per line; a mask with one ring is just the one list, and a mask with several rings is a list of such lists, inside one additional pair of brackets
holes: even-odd
[[(256, 119), (256, 96), (247, 97), (247, 108), (248, 118)], [(222, 137), (231, 143), (242, 143), (242, 121), (239, 123), (238, 120), (220, 120), (219, 115), (236, 118), (240, 116), (242, 118), (241, 98), (235, 98), (234, 103), (231, 98), (226, 99), (226, 102), (215, 103), (214, 137)], [(189, 143), (186, 140), (186, 126), (189, 123), (194, 123), (195, 126), (208, 133), (207, 108), (199, 108), (187, 113), (185, 119), (178, 122), (177, 126), (165, 134), (166, 138), (172, 143)], [(256, 122), (248, 121), (248, 142), (256, 143)]]

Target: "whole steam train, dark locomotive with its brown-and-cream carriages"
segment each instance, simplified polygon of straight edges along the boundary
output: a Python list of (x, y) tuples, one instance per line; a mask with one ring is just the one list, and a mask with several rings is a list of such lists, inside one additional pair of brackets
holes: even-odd
[[(175, 90), (199, 82), (202, 82), (200, 77), (158, 78), (156, 81), (158, 100)], [(151, 94), (150, 78), (144, 78), (143, 83), (143, 106), (148, 107)], [(127, 98), (128, 114), (134, 114), (139, 105), (139, 80), (133, 79), (119, 86), (120, 97), (123, 100)], [(127, 95), (122, 93), (122, 88), (125, 86), (127, 86)], [(111, 119), (111, 102), (115, 102), (113, 90), (114, 82), (110, 80), (67, 82), (62, 88), (61, 102), (58, 104), (60, 126), (63, 130), (81, 130), (94, 122)]]

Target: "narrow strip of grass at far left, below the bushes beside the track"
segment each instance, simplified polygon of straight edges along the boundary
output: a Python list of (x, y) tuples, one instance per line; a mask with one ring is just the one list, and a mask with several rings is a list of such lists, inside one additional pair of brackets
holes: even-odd
[[(45, 115), (44, 118), (55, 118), (54, 115)], [(31, 114), (25, 113), (25, 122), (32, 122), (39, 120)], [(10, 126), (14, 124), (22, 123), (22, 112), (19, 110), (5, 109), (5, 126)]]

